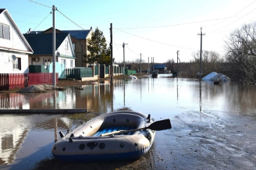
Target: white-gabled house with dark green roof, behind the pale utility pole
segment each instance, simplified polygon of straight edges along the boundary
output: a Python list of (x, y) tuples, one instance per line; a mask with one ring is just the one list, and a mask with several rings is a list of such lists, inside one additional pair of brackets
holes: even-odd
[[(50, 66), (52, 61), (52, 33), (50, 34), (23, 34), (34, 53), (29, 55), (29, 65)], [(65, 66), (64, 69), (74, 68), (76, 55), (68, 33), (55, 34), (55, 61)]]

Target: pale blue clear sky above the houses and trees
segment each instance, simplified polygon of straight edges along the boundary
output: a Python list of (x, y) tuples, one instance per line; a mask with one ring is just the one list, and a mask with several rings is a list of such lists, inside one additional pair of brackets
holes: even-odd
[(113, 34), (113, 58), (123, 62), (190, 62), (202, 50), (225, 56), (229, 35), (256, 19), (255, 0), (0, 0), (21, 32), (47, 30), (95, 30), (98, 27), (110, 43)]

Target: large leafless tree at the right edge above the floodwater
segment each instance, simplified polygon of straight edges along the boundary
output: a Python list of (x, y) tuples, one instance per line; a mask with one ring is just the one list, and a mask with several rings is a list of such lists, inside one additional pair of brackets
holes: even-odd
[(245, 24), (233, 31), (226, 41), (227, 61), (236, 80), (256, 83), (256, 23)]

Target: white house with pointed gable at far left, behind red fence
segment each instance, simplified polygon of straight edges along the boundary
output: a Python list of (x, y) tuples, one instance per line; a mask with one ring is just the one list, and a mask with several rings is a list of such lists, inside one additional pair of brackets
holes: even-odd
[(0, 9), (0, 73), (28, 73), (33, 50), (7, 9)]

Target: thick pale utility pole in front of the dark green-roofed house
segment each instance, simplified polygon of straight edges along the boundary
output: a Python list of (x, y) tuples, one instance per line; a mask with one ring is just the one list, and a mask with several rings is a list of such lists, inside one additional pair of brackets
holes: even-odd
[(55, 55), (55, 5), (52, 5), (52, 86), (56, 86)]

